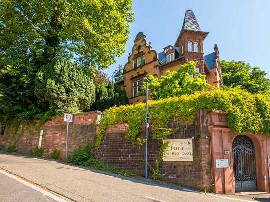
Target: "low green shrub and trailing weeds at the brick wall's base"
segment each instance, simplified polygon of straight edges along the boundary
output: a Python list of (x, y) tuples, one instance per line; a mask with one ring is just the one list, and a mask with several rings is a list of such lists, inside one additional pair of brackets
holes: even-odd
[(108, 171), (124, 176), (136, 176), (131, 171), (110, 167), (106, 163), (103, 163), (100, 160), (95, 159), (94, 155), (91, 153), (92, 149), (93, 145), (87, 144), (86, 146), (80, 147), (78, 150), (73, 151), (68, 158), (68, 163), (71, 163), (73, 165), (89, 166), (96, 170)]

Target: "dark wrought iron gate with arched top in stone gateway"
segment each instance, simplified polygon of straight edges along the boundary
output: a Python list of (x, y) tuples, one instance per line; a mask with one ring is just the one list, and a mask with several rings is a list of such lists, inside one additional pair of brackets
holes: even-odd
[(238, 135), (233, 140), (235, 191), (256, 190), (254, 145), (250, 138)]

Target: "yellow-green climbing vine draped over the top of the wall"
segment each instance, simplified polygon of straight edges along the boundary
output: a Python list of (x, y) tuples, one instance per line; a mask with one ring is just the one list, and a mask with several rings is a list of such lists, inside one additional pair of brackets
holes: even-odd
[[(170, 134), (168, 123), (174, 119), (181, 122), (191, 121), (199, 109), (220, 110), (227, 114), (228, 126), (235, 132), (244, 134), (270, 135), (270, 97), (264, 94), (251, 94), (240, 89), (196, 92), (149, 102), (151, 114), (150, 125), (152, 138), (165, 140)], [(106, 129), (118, 122), (127, 122), (125, 138), (130, 139), (133, 146), (141, 144), (138, 137), (145, 117), (145, 104), (112, 107), (105, 111), (100, 120), (96, 149), (103, 141)]]

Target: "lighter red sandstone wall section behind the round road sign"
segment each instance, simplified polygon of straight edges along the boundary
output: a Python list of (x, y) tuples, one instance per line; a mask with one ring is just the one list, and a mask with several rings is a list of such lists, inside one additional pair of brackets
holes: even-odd
[[(93, 111), (74, 115), (73, 123), (69, 124), (69, 152), (95, 141), (95, 124), (100, 114)], [(66, 127), (67, 123), (63, 121), (63, 117), (56, 117), (45, 123), (41, 144), (41, 147), (45, 148), (44, 156), (48, 156), (54, 149), (60, 150), (62, 157), (65, 156)]]

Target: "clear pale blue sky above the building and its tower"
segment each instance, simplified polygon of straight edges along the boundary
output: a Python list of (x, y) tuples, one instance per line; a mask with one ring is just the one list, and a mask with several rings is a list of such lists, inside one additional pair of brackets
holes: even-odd
[(221, 60), (246, 61), (268, 73), (270, 78), (270, 0), (133, 0), (134, 22), (126, 53), (105, 72), (110, 76), (127, 62), (134, 39), (144, 32), (158, 53), (174, 45), (187, 9), (194, 11), (202, 31), (204, 53), (219, 48)]

